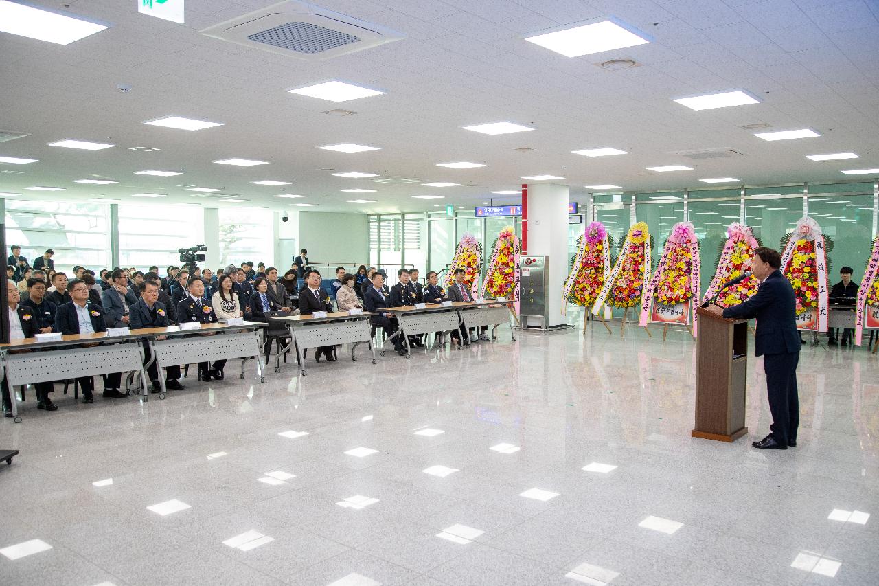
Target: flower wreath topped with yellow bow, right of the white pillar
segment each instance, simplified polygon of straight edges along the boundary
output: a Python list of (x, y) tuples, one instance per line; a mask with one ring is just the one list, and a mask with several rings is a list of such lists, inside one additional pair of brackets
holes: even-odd
[(628, 229), (620, 256), (592, 305), (592, 313), (598, 315), (604, 304), (635, 307), (641, 303), (644, 282), (649, 279), (650, 232), (646, 223), (638, 222)]

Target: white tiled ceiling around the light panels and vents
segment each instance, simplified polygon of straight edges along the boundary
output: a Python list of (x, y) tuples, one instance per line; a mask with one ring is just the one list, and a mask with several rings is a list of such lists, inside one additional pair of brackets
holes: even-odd
[[(60, 3), (37, 0), (59, 8)], [(556, 174), (571, 187), (614, 184), (633, 190), (707, 187), (698, 179), (736, 177), (748, 185), (848, 178), (841, 169), (879, 167), (879, 3), (874, 0), (323, 0), (324, 8), (407, 35), (388, 45), (325, 62), (240, 47), (198, 31), (274, 4), (273, 0), (186, 0), (186, 24), (150, 18), (135, 0), (68, 0), (68, 11), (113, 26), (62, 47), (0, 33), (0, 128), (31, 133), (0, 143), (0, 155), (33, 157), (3, 165), (0, 191), (66, 187), (65, 199), (106, 196), (128, 201), (139, 192), (167, 193), (165, 202), (193, 199), (178, 184), (222, 187), (282, 209), (296, 201), (316, 211), (419, 211), (481, 205), (492, 190), (517, 188), (522, 175)], [(655, 42), (569, 59), (522, 39), (526, 33), (613, 14)], [(598, 62), (630, 58), (640, 67), (603, 70)], [(342, 104), (287, 93), (339, 78), (387, 95)], [(120, 92), (119, 84), (129, 84)], [(700, 93), (745, 89), (761, 104), (694, 112), (672, 101)], [(322, 112), (345, 108), (356, 115)], [(179, 115), (219, 121), (198, 132), (145, 126)], [(535, 131), (483, 136), (461, 126), (516, 121)], [(766, 143), (744, 125), (813, 128), (822, 136)], [(76, 138), (115, 143), (97, 152), (48, 147)], [(331, 143), (381, 147), (345, 154)], [(158, 147), (142, 153), (132, 146)], [(580, 157), (590, 147), (631, 154)], [(528, 147), (534, 150), (519, 152)], [(674, 154), (726, 148), (743, 156), (692, 160)], [(852, 150), (860, 159), (816, 163), (805, 155)], [(224, 157), (271, 161), (257, 167), (214, 165)], [(445, 169), (436, 163), (474, 161), (487, 167)], [(692, 172), (655, 173), (645, 166), (683, 164)], [(182, 171), (171, 178), (135, 171)], [(463, 187), (388, 186), (343, 179), (331, 171), (375, 172)], [(102, 176), (113, 186), (74, 179)], [(282, 189), (309, 195), (280, 200), (278, 187), (250, 181), (293, 181)], [(868, 178), (872, 179), (872, 178)], [(341, 193), (345, 188), (374, 194)], [(441, 194), (444, 200), (417, 200)], [(493, 196), (495, 202), (518, 197)], [(346, 199), (376, 199), (375, 204)], [(213, 203), (211, 205), (214, 205)], [(217, 203), (217, 206), (240, 205)], [(289, 208), (287, 209), (294, 209)]]

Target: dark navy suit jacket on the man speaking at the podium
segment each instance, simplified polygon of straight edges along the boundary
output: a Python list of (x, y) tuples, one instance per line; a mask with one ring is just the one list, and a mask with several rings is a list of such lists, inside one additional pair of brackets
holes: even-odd
[(800, 333), (796, 330), (794, 288), (774, 271), (761, 282), (757, 294), (745, 303), (723, 310), (724, 318), (757, 318), (755, 354), (792, 354), (800, 351)]

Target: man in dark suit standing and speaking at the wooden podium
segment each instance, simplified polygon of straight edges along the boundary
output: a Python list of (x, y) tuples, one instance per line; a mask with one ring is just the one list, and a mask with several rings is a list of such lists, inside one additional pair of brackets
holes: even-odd
[(796, 445), (800, 424), (800, 399), (796, 389), (796, 365), (800, 361), (800, 334), (796, 329), (794, 289), (781, 275), (781, 254), (760, 246), (754, 251), (752, 273), (759, 279), (757, 294), (745, 303), (707, 309), (732, 319), (757, 319), (754, 354), (763, 356), (766, 393), (772, 412), (770, 434), (752, 445), (761, 450), (787, 450)]

